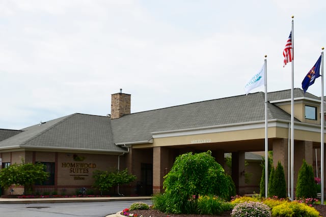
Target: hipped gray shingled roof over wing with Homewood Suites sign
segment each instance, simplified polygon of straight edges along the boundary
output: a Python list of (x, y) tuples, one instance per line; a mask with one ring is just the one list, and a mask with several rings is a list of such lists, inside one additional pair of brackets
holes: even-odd
[(110, 122), (105, 116), (75, 113), (24, 128), (23, 132), (1, 141), (0, 148), (69, 148), (122, 153), (125, 149), (113, 142)]

